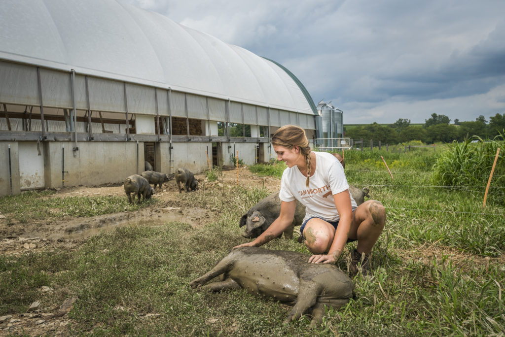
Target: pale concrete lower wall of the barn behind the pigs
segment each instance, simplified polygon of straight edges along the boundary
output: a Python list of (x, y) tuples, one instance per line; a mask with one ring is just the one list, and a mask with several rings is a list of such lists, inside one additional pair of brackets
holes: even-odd
[[(142, 142), (78, 142), (79, 150), (73, 151), (74, 142), (50, 141), (41, 142), (0, 142), (0, 196), (21, 193), (20, 158), (26, 158), (26, 153), (20, 151), (33, 146), (43, 156), (43, 188), (61, 188), (63, 186), (96, 186), (106, 183), (122, 183), (132, 174), (144, 171), (144, 144)], [(29, 144), (33, 143), (33, 144)], [(9, 144), (11, 145), (11, 179), (9, 176)], [(273, 148), (269, 143), (260, 143), (262, 158), (257, 156), (257, 143), (218, 143), (221, 148), (224, 165), (233, 165), (232, 156), (238, 151), (238, 158), (245, 165), (257, 161), (268, 162), (275, 158)], [(312, 144), (311, 144), (312, 145)], [(28, 147), (27, 147), (28, 146)], [(194, 174), (208, 169), (207, 155), (212, 160), (212, 142), (155, 143), (158, 171), (174, 173), (178, 167), (186, 167)], [(40, 148), (39, 148), (40, 147)], [(270, 152), (269, 152), (270, 150)], [(64, 160), (63, 160), (64, 158)], [(40, 161), (37, 155), (36, 158)], [(171, 160), (172, 159), (172, 160)], [(38, 162), (37, 161), (37, 162)], [(64, 164), (64, 167), (62, 166)], [(26, 164), (25, 164), (26, 166)], [(62, 177), (62, 169), (65, 175)], [(24, 169), (23, 169), (24, 170)], [(26, 170), (25, 170), (26, 171)]]

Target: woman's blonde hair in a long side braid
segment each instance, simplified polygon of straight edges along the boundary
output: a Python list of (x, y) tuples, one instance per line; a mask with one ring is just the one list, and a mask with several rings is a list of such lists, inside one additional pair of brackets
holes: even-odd
[(279, 128), (272, 136), (272, 145), (284, 146), (288, 149), (298, 146), (300, 153), (305, 156), (305, 166), (307, 167), (307, 187), (311, 175), (311, 147), (305, 135), (304, 129), (296, 125), (285, 125)]

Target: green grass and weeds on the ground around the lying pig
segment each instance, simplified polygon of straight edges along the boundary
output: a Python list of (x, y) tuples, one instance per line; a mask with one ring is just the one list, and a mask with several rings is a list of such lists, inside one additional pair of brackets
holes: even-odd
[[(248, 241), (238, 220), (268, 192), (242, 187), (180, 195), (187, 207), (219, 214), (205, 227), (131, 226), (92, 237), (77, 251), (0, 255), (0, 315), (26, 312), (34, 300), (49, 307), (77, 296), (69, 314), (72, 335), (502, 335), (505, 211), (494, 200), (483, 209), (483, 194), (472, 186), (434, 186), (431, 167), (443, 151), (424, 150), (372, 151), (368, 157), (346, 152), (349, 183), (368, 186), (384, 204), (386, 227), (373, 251), (373, 276), (355, 278), (357, 298), (328, 309), (314, 330), (308, 318), (283, 325), (291, 308), (278, 302), (187, 286), (231, 247)], [(264, 247), (309, 256), (295, 239)], [(347, 245), (345, 254), (354, 247)], [(346, 269), (345, 256), (338, 265)], [(43, 285), (55, 293), (41, 297), (35, 289)], [(159, 316), (142, 319), (147, 313)]]

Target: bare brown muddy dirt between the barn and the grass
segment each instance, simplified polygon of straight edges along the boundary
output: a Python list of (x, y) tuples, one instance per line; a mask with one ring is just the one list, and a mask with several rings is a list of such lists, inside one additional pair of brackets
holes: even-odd
[[(280, 188), (280, 180), (272, 177), (258, 177), (247, 167), (237, 170), (229, 167), (222, 171), (222, 178), (216, 182), (209, 182), (205, 175), (196, 174), (200, 189), (212, 189), (221, 186), (264, 187), (268, 191)], [(127, 223), (144, 222), (161, 223), (162, 221), (188, 222), (193, 227), (205, 226), (216, 216), (212, 210), (205, 208), (187, 207), (181, 201), (175, 180), (163, 184), (153, 198), (158, 199), (156, 205), (143, 208), (135, 212), (120, 212), (94, 217), (71, 217), (51, 219), (49, 221), (29, 221), (26, 223), (8, 223), (9, 214), (0, 213), (0, 253), (21, 254), (27, 251), (38, 251), (50, 246), (76, 246), (83, 239), (98, 234), (100, 231), (110, 231)], [(184, 193), (184, 192), (182, 192)], [(194, 192), (193, 192), (194, 193)], [(57, 190), (51, 197), (72, 196), (121, 196), (126, 197), (123, 185), (110, 184), (106, 186), (78, 186)], [(155, 221), (153, 221), (155, 220)]]

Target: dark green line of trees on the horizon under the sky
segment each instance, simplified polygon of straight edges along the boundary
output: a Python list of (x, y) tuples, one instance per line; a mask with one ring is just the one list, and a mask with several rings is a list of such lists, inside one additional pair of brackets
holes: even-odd
[(505, 114), (496, 114), (486, 121), (484, 116), (479, 116), (475, 121), (460, 122), (458, 119), (450, 124), (450, 119), (445, 115), (432, 114), (425, 120), (424, 125), (411, 125), (409, 119), (398, 119), (393, 124), (381, 125), (374, 122), (346, 130), (344, 137), (355, 140), (363, 139), (380, 141), (383, 144), (407, 143), (413, 140), (425, 144), (437, 142), (450, 143), (463, 141), (473, 136), (482, 139), (493, 139), (505, 134)]

